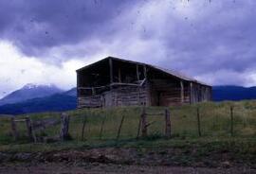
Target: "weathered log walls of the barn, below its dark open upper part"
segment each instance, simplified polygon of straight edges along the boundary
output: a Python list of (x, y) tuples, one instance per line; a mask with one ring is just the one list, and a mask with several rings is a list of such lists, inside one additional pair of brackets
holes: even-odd
[(143, 86), (118, 86), (96, 96), (78, 97), (79, 108), (113, 106), (174, 106), (211, 100), (211, 88), (192, 82), (157, 80)]

